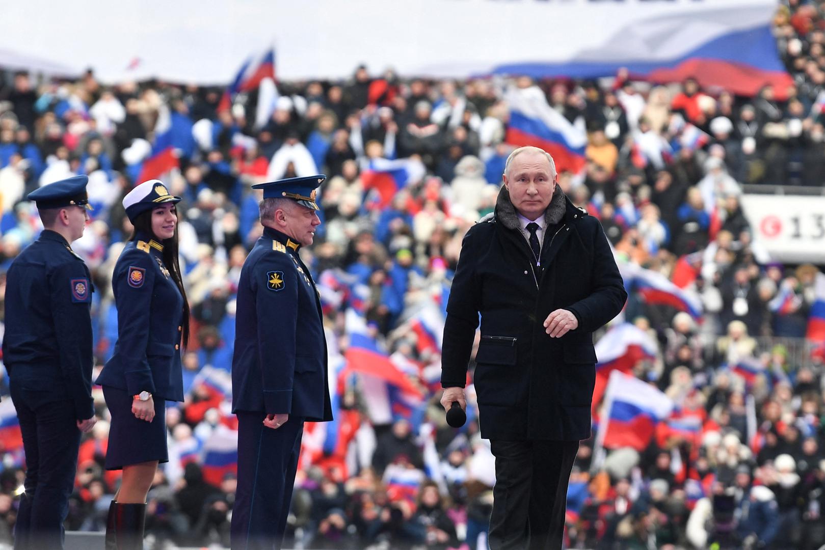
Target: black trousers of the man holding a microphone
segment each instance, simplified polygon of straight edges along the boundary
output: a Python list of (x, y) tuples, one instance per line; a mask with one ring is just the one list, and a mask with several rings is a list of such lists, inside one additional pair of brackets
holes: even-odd
[(491, 550), (562, 548), (578, 441), (490, 440), (490, 450), (496, 457)]

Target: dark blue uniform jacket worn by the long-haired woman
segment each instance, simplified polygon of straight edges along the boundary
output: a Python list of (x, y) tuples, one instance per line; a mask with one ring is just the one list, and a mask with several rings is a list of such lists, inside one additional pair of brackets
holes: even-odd
[(163, 245), (138, 234), (120, 253), (112, 275), (118, 338), (97, 383), (130, 396), (146, 391), (155, 402), (183, 401), (183, 297), (162, 252)]

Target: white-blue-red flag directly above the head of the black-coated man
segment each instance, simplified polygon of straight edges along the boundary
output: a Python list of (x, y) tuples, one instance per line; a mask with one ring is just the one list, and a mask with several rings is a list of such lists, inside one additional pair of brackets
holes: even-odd
[[(539, 87), (511, 87), (505, 94), (510, 104), (510, 124), (505, 140), (517, 147), (532, 145), (550, 153), (556, 172), (582, 172), (587, 131), (574, 125), (547, 103)], [(581, 119), (580, 119), (581, 120)]]

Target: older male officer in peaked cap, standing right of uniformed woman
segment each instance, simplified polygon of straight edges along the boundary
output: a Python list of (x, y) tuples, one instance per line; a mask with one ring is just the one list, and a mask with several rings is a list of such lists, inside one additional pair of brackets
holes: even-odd
[(233, 550), (281, 548), (304, 421), (331, 421), (321, 303), (300, 247), (312, 244), (326, 176), (263, 190), (263, 236), (238, 283), (232, 408), (238, 416)]

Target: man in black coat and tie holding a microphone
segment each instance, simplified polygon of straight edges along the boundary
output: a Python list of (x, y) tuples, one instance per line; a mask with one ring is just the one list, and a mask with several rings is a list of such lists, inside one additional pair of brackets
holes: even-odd
[(627, 298), (597, 219), (556, 186), (552, 157), (507, 159), (496, 210), (467, 232), (444, 327), (441, 404), (474, 374), (482, 437), (496, 457), (490, 548), (561, 548), (578, 441), (590, 437), (592, 332)]

